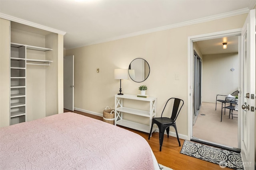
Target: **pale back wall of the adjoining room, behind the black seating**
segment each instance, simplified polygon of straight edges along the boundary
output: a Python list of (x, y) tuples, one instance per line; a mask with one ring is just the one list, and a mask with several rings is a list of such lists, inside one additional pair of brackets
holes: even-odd
[(215, 103), (217, 94), (228, 95), (238, 90), (238, 53), (203, 56), (202, 102)]

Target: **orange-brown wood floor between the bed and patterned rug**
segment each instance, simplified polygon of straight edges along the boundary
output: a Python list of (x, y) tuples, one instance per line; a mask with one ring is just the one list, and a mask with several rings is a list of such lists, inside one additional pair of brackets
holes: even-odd
[[(68, 112), (69, 110), (64, 109), (64, 112)], [(102, 117), (84, 113), (81, 111), (73, 111), (74, 113), (78, 113), (84, 116), (92, 117), (94, 119), (103, 120)], [(122, 126), (120, 126), (122, 127)], [(223, 170), (223, 169), (230, 169), (230, 168), (220, 168), (219, 165), (213, 164), (211, 162), (207, 162), (204, 160), (200, 160), (197, 158), (193, 158), (191, 156), (187, 156), (180, 153), (182, 145), (184, 143), (183, 139), (180, 139), (181, 147), (178, 145), (178, 141), (175, 137), (167, 137), (164, 136), (164, 142), (162, 146), (162, 151), (159, 151), (159, 133), (152, 133), (152, 137), (148, 140), (148, 133), (144, 133), (141, 131), (137, 131), (134, 129), (129, 129), (126, 127), (122, 127), (138, 135), (141, 135), (148, 141), (151, 149), (156, 156), (156, 160), (159, 164), (164, 166), (170, 167), (174, 170)]]

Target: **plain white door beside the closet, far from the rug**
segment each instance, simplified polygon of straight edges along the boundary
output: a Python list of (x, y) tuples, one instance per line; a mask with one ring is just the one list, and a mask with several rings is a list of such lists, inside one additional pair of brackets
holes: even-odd
[(74, 55), (63, 59), (64, 109), (74, 111)]

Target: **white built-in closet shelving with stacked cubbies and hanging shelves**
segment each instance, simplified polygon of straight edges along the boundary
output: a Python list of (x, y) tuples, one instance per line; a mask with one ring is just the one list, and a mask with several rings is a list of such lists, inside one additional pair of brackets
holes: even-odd
[(10, 124), (26, 121), (26, 64), (50, 65), (52, 61), (27, 59), (27, 49), (49, 51), (52, 49), (10, 44)]

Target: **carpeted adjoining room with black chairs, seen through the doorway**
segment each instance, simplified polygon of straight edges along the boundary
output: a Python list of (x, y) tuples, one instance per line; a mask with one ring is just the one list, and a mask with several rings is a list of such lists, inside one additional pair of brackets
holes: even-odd
[[(194, 44), (197, 59), (194, 68), (198, 69), (194, 76), (195, 87), (198, 87), (194, 96), (198, 102), (194, 106), (193, 137), (235, 149), (238, 148), (238, 109), (222, 109), (225, 103), (223, 105), (219, 101), (235, 100), (228, 98), (228, 95), (238, 91), (238, 39), (239, 36), (230, 36), (196, 41)], [(223, 45), (225, 42), (229, 42), (224, 44), (227, 47)], [(238, 94), (233, 95), (238, 97)], [(226, 102), (226, 107), (230, 106)], [(234, 113), (233, 118), (230, 113)]]

